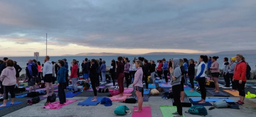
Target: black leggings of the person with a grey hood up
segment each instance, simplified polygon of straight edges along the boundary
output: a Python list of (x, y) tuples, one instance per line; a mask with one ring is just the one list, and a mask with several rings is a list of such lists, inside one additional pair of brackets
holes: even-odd
[(173, 85), (173, 99), (177, 106), (177, 112), (179, 115), (182, 115), (182, 105), (181, 105), (181, 85)]

